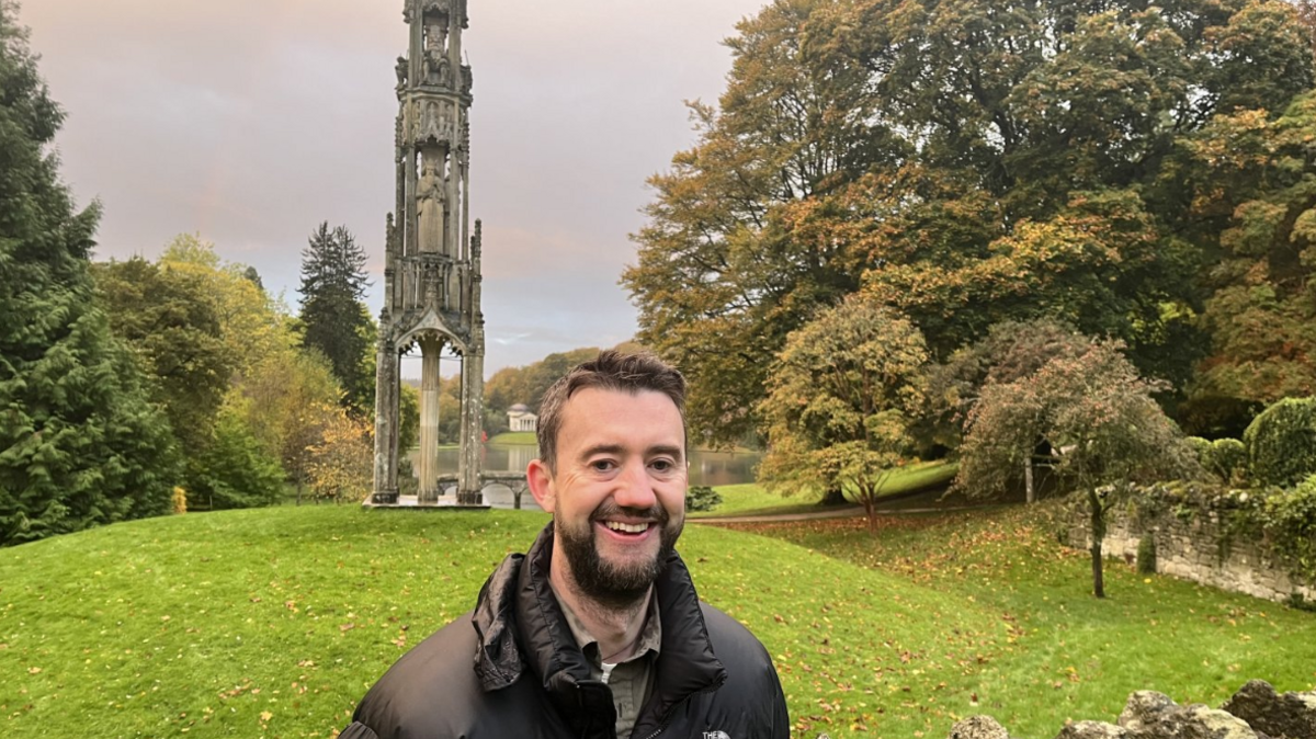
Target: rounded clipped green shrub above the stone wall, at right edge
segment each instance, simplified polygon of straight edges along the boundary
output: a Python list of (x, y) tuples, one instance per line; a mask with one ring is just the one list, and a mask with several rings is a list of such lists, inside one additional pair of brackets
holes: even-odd
[(1244, 431), (1254, 485), (1287, 488), (1316, 472), (1316, 398), (1284, 398)]

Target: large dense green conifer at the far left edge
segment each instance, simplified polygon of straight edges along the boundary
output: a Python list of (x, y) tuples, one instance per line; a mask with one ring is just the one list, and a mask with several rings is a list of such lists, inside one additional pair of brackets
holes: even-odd
[(63, 113), (0, 0), (0, 544), (168, 513), (168, 421), (96, 305), (99, 206), (47, 146)]

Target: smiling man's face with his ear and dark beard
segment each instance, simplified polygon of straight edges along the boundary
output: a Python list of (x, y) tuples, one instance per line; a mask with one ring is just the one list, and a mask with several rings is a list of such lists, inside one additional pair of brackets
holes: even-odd
[(529, 475), (582, 594), (621, 606), (649, 590), (686, 521), (684, 444), (659, 392), (586, 388), (566, 402), (555, 469), (536, 460)]

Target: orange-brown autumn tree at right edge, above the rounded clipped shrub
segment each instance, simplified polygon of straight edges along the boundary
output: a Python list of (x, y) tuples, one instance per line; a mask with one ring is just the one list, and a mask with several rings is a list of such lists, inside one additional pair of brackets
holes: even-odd
[(1316, 93), (1282, 116), (1220, 116), (1184, 142), (1200, 239), (1219, 252), (1188, 388), (1196, 433), (1240, 435), (1262, 408), (1316, 393)]

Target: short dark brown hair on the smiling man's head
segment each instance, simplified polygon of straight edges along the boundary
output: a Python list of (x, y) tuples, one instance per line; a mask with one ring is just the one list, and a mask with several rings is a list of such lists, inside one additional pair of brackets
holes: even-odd
[(553, 383), (540, 401), (536, 438), (540, 442), (540, 459), (549, 469), (555, 469), (562, 410), (572, 394), (586, 388), (632, 394), (641, 391), (659, 392), (671, 398), (682, 423), (686, 422), (686, 377), (675, 367), (647, 352), (622, 354), (612, 348), (600, 351), (599, 356), (572, 367)]

